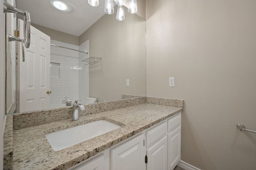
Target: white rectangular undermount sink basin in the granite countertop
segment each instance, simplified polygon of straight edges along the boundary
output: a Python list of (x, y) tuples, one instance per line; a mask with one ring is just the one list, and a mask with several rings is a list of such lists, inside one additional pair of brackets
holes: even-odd
[(52, 132), (45, 136), (52, 146), (52, 149), (58, 151), (117, 128), (120, 128), (120, 126), (105, 120), (100, 120), (58, 132)]

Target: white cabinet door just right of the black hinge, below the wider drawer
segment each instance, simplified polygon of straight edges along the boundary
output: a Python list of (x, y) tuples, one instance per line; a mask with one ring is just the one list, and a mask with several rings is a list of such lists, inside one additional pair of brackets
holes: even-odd
[(167, 137), (147, 149), (147, 170), (167, 170)]

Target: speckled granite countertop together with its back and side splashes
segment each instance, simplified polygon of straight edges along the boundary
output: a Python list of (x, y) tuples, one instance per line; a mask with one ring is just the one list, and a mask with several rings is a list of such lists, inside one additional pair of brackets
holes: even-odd
[[(67, 169), (177, 114), (183, 110), (183, 100), (140, 97), (85, 106), (87, 111), (81, 113), (79, 121), (71, 120), (71, 107), (8, 116), (4, 134), (6, 169)], [(44, 136), (102, 119), (122, 127), (60, 151), (52, 150)]]

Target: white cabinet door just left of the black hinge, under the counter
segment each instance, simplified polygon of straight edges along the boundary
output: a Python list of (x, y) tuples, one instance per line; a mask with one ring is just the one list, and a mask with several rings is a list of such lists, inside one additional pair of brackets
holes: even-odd
[(110, 149), (110, 170), (144, 170), (144, 135)]

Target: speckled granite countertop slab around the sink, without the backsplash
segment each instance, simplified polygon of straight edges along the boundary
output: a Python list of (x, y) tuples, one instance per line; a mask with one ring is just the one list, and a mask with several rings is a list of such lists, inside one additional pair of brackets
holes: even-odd
[[(180, 107), (143, 103), (82, 115), (79, 121), (70, 118), (13, 130), (13, 169), (67, 169), (182, 110)], [(45, 133), (102, 119), (121, 127), (60, 151), (54, 151), (45, 137)]]

